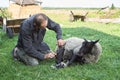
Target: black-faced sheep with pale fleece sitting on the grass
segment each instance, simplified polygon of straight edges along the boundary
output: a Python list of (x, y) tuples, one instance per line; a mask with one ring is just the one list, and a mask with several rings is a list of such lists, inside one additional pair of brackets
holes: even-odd
[(77, 60), (80, 63), (96, 63), (102, 53), (99, 40), (86, 40), (71, 37), (62, 47), (56, 48), (56, 67), (67, 67)]

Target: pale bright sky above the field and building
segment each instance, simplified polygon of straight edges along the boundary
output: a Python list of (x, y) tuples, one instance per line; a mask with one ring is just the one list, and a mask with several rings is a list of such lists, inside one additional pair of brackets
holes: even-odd
[[(111, 6), (120, 8), (120, 0), (42, 0), (42, 7), (101, 8)], [(0, 7), (8, 7), (9, 0), (0, 0)]]

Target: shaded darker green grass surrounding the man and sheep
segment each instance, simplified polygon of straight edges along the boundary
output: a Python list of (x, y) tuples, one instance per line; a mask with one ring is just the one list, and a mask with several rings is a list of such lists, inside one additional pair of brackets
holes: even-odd
[[(52, 41), (55, 40), (55, 37), (53, 37), (53, 35), (51, 34), (51, 31), (48, 31), (46, 35), (52, 36), (51, 38)], [(2, 75), (3, 79), (5, 80), (6, 78), (14, 77), (14, 78), (17, 78), (16, 80), (20, 80), (20, 78), (23, 78), (24, 80), (25, 79), (27, 80), (30, 78), (30, 80), (32, 80), (34, 77), (37, 77), (39, 79), (45, 78), (46, 80), (48, 80), (49, 78), (51, 78), (52, 80), (57, 80), (58, 79), (57, 76), (59, 75), (56, 75), (56, 74), (59, 74), (59, 73), (60, 73), (59, 77), (62, 76), (63, 78), (61, 77), (58, 80), (61, 80), (61, 79), (68, 80), (70, 78), (71, 80), (78, 80), (78, 78), (79, 80), (80, 79), (82, 80), (82, 78), (84, 80), (101, 80), (101, 79), (106, 80), (107, 78), (109, 78), (109, 75), (112, 75), (110, 77), (111, 79), (117, 79), (115, 78), (115, 76), (118, 76), (119, 74), (116, 74), (116, 75), (113, 75), (113, 74), (115, 74), (115, 71), (117, 70), (118, 66), (120, 66), (119, 64), (120, 37), (109, 35), (109, 34), (106, 34), (94, 29), (90, 29), (87, 27), (63, 28), (63, 38), (67, 39), (69, 37), (79, 37), (79, 38), (86, 38), (90, 40), (100, 39), (100, 44), (102, 45), (102, 48), (103, 48), (100, 61), (97, 64), (92, 64), (87, 66), (84, 65), (84, 67), (75, 66), (75, 68), (71, 67), (71, 68), (66, 68), (59, 71), (54, 71), (50, 69), (50, 65), (54, 64), (54, 59), (42, 61), (40, 65), (36, 67), (32, 67), (32, 68), (28, 66), (25, 67), (21, 63), (14, 62), (11, 58), (10, 52), (17, 43), (17, 36), (15, 36), (13, 39), (9, 39), (8, 37), (6, 37), (6, 35), (3, 35), (2, 45), (1, 45), (2, 47), (0, 48), (0, 63), (1, 63), (0, 73), (4, 73)], [(46, 37), (46, 39), (49, 39), (49, 38)], [(49, 43), (49, 40), (48, 40), (48, 43)], [(50, 43), (50, 45), (54, 46), (52, 43)], [(110, 70), (108, 70), (109, 68), (110, 70), (113, 70), (113, 71), (110, 72)], [(34, 73), (32, 73), (31, 71), (34, 71)], [(42, 74), (37, 75), (38, 73), (42, 73)], [(9, 76), (6, 76), (8, 74)], [(27, 76), (23, 77), (24, 74)], [(44, 77), (44, 75), (46, 74), (48, 77), (47, 76)], [(99, 74), (102, 74), (102, 75), (99, 75)], [(53, 79), (53, 78), (56, 78), (56, 79)]]

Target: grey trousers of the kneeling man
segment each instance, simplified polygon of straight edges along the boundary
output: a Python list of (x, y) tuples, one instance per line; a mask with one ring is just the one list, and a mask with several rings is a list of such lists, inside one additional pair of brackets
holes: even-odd
[[(40, 50), (42, 54), (47, 54), (51, 52), (49, 46), (44, 42), (42, 43), (42, 48), (43, 50)], [(12, 54), (15, 60), (23, 62), (26, 65), (34, 66), (38, 65), (40, 62), (38, 59), (31, 57), (27, 53), (25, 53), (22, 48), (15, 47), (12, 51)]]

